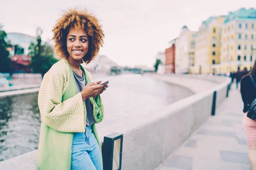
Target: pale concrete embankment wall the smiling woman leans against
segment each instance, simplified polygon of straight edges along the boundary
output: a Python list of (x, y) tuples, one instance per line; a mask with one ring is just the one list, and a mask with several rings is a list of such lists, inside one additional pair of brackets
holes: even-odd
[[(122, 133), (122, 169), (153, 170), (211, 115), (214, 91), (216, 106), (221, 104), (229, 83), (230, 79), (225, 79), (214, 88), (159, 108), (157, 113), (138, 113), (136, 117), (99, 128), (100, 140), (113, 132)], [(0, 169), (35, 170), (36, 153), (37, 150), (2, 161)]]

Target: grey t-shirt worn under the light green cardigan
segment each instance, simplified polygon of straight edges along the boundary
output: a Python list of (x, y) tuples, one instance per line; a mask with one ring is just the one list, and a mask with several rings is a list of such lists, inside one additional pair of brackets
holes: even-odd
[[(84, 86), (86, 86), (84, 72), (83, 72), (83, 77), (76, 74), (75, 71), (73, 71), (73, 74), (74, 74), (75, 81), (76, 81), (76, 89), (77, 89), (77, 92), (79, 93), (83, 90)], [(84, 102), (85, 102), (86, 112), (87, 112), (87, 114), (86, 114), (86, 125), (91, 126), (95, 123), (95, 120), (93, 118), (93, 105), (90, 102), (89, 98), (85, 99)]]

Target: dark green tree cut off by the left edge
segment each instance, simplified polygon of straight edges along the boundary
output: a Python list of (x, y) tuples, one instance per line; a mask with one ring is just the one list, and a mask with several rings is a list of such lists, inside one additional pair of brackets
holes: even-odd
[(9, 46), (7, 45), (5, 38), (7, 34), (3, 31), (3, 26), (0, 26), (0, 72), (11, 73), (11, 59), (9, 57), (9, 51), (6, 50)]

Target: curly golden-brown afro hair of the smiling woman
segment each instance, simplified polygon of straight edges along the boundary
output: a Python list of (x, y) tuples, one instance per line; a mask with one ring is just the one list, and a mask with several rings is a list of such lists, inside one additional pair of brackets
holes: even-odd
[(71, 28), (84, 29), (88, 34), (89, 49), (81, 62), (90, 63), (99, 53), (100, 46), (103, 46), (104, 33), (99, 20), (87, 12), (87, 10), (69, 9), (57, 20), (52, 32), (52, 40), (55, 42), (54, 48), (58, 56), (68, 58), (67, 34)]

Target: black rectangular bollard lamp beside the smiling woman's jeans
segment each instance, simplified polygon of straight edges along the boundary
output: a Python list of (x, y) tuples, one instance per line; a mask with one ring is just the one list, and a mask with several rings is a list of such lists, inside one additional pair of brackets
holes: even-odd
[(103, 170), (121, 170), (123, 134), (104, 136), (102, 145)]

